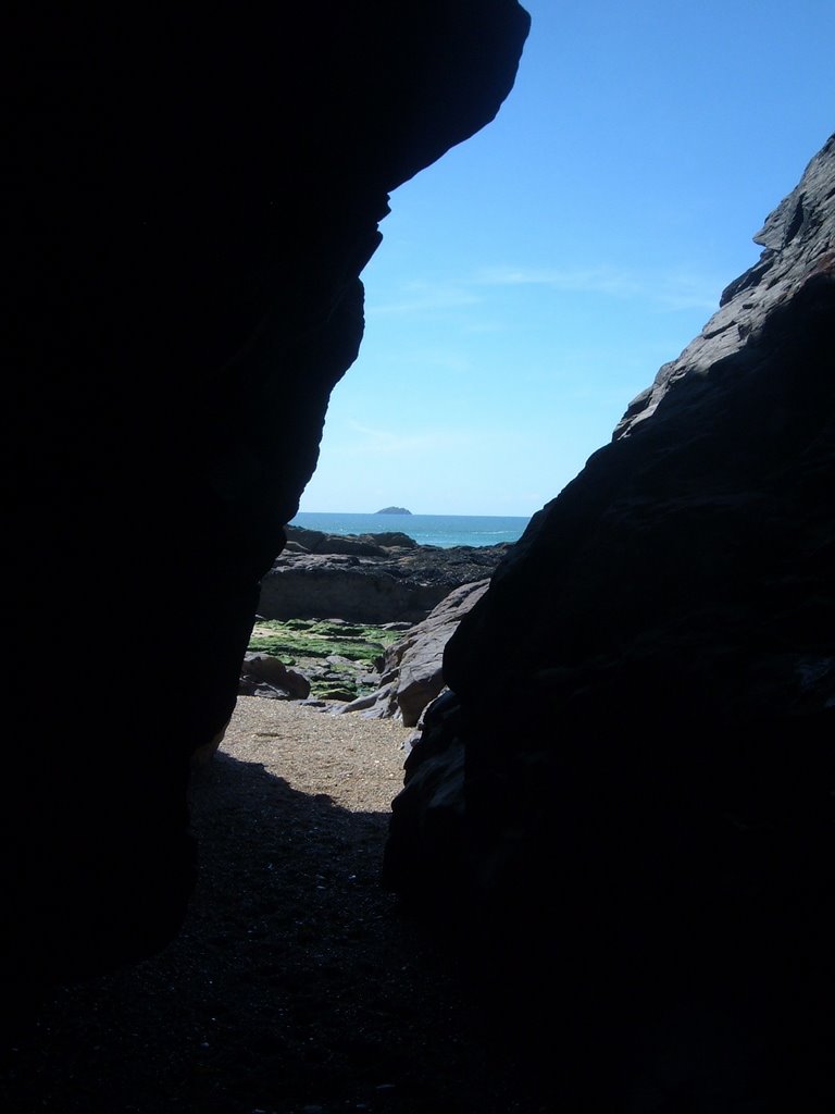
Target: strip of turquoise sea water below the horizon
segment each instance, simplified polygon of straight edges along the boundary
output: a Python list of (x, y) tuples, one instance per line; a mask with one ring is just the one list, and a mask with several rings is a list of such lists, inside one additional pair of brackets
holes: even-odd
[(421, 546), (494, 546), (517, 541), (529, 518), (498, 515), (318, 515), (301, 511), (291, 526), (324, 534), (407, 534)]

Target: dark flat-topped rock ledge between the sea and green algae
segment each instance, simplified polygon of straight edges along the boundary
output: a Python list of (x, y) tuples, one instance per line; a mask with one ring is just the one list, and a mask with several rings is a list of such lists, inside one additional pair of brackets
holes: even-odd
[(288, 546), (273, 563), (261, 585), (264, 618), (422, 623), (455, 588), (491, 576), (511, 548), (500, 543), (444, 549), (399, 534), (293, 537), (313, 551)]

